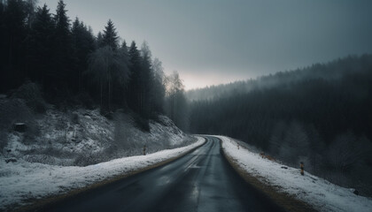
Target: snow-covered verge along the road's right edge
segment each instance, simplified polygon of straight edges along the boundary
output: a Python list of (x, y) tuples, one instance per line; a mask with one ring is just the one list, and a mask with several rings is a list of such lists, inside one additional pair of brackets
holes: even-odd
[(222, 148), (236, 163), (262, 183), (277, 186), (284, 193), (290, 193), (300, 201), (305, 201), (319, 211), (372, 211), (372, 200), (357, 196), (350, 189), (336, 186), (329, 181), (309, 173), (301, 176), (298, 169), (262, 158), (245, 148), (237, 149), (236, 141), (225, 136)]

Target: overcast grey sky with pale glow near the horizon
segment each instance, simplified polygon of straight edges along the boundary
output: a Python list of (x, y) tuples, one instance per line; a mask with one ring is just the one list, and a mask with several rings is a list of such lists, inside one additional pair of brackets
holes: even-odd
[[(39, 0), (52, 13), (58, 0)], [(370, 0), (66, 0), (102, 31), (112, 19), (122, 39), (150, 45), (187, 89), (372, 53)]]

